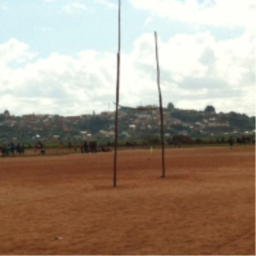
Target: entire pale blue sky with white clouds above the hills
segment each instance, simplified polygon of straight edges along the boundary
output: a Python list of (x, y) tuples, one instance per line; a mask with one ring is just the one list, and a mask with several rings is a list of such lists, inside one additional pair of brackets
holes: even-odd
[[(113, 111), (118, 0), (0, 0), (0, 113)], [(122, 0), (121, 105), (255, 115), (254, 0)]]

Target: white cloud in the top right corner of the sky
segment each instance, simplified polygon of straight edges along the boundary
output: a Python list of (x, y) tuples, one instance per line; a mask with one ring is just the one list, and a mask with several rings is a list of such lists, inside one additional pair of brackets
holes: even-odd
[(180, 20), (190, 24), (208, 26), (255, 26), (254, 0), (130, 0), (137, 9)]

